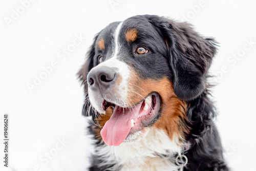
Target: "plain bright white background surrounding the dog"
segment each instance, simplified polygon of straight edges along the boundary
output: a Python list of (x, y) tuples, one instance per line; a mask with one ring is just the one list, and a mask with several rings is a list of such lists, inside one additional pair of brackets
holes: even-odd
[[(28, 2), (0, 3), (0, 168), (3, 115), (9, 114), (9, 170), (85, 170), (92, 141), (86, 137), (87, 119), (81, 116), (83, 90), (76, 76), (84, 55), (94, 35), (111, 22), (156, 14), (186, 20), (200, 34), (220, 42), (210, 69), (219, 75), (215, 79), (218, 86), (212, 89), (219, 111), (216, 123), (230, 167), (252, 170), (256, 144), (255, 1)], [(65, 59), (59, 58), (79, 35), (86, 38)], [(57, 67), (30, 92), (27, 84), (52, 61)], [(61, 146), (58, 139), (65, 139), (66, 144)], [(40, 160), (50, 152), (54, 155), (51, 160)]]

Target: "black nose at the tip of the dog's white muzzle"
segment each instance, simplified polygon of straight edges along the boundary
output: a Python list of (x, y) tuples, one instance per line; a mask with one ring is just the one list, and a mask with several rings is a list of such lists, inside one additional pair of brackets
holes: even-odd
[(100, 67), (89, 72), (87, 81), (92, 90), (107, 90), (116, 80), (116, 72), (110, 67)]

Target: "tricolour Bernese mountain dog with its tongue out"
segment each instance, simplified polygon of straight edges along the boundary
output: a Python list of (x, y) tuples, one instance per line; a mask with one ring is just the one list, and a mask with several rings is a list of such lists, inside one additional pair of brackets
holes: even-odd
[(89, 170), (229, 170), (207, 82), (216, 46), (156, 15), (96, 34), (78, 72), (95, 139)]

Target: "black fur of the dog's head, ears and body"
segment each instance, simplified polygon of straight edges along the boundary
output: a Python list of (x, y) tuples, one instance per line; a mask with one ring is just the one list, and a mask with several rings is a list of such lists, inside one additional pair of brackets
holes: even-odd
[[(112, 53), (110, 47), (105, 47), (106, 50), (103, 51), (97, 49), (95, 42), (99, 35), (104, 36), (106, 41), (111, 39), (111, 33), (118, 24), (110, 24), (95, 37), (87, 55), (87, 62), (78, 73), (84, 82), (85, 92), (88, 89), (87, 73), (98, 65), (98, 55), (103, 54), (106, 60)], [(123, 58), (120, 60), (135, 69), (143, 79), (168, 77), (173, 82), (175, 94), (188, 103), (189, 122), (186, 124), (190, 127), (190, 133), (186, 135), (186, 141), (191, 143), (191, 147), (185, 154), (188, 164), (184, 170), (229, 170), (223, 159), (221, 140), (213, 121), (216, 111), (208, 98), (210, 86), (206, 80), (217, 50), (216, 41), (200, 36), (187, 23), (178, 23), (155, 15), (139, 15), (126, 19), (123, 23), (124, 29), (120, 32), (123, 34), (120, 35), (124, 35), (125, 28), (133, 27), (139, 29), (140, 37), (133, 43), (119, 37), (125, 44), (121, 50)], [(105, 45), (111, 46), (111, 42)], [(143, 58), (137, 57), (132, 53), (136, 45), (146, 45), (151, 53)], [(90, 104), (84, 106), (84, 111), (93, 115), (93, 111), (88, 111), (88, 105)], [(95, 115), (93, 120), (96, 120)], [(93, 126), (90, 126), (90, 132), (95, 134)], [(96, 145), (102, 144), (97, 142)], [(108, 167), (98, 167), (100, 162), (100, 156), (93, 156), (89, 170), (107, 170)]]

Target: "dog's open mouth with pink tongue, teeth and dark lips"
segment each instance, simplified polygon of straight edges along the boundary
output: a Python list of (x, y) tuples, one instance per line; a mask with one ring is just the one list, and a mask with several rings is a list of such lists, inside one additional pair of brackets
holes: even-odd
[(122, 108), (106, 100), (103, 110), (114, 108), (111, 118), (105, 123), (100, 134), (108, 145), (120, 145), (128, 135), (142, 131), (144, 126), (152, 125), (159, 116), (160, 96), (151, 93), (138, 104), (130, 108)]

